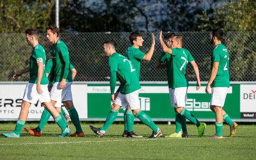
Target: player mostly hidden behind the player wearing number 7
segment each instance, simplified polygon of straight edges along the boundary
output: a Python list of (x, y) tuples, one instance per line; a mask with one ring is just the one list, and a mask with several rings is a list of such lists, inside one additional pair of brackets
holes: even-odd
[[(165, 35), (164, 39), (165, 42), (167, 44), (167, 47), (171, 47), (171, 39), (175, 36), (174, 33), (167, 33), (167, 35)], [(157, 63), (156, 63), (156, 67), (157, 68), (166, 68), (166, 72), (167, 72), (167, 81), (168, 81), (168, 88), (169, 88), (169, 95), (170, 95), (170, 101), (171, 101), (171, 106), (175, 106), (174, 103), (174, 96), (172, 94), (172, 86), (171, 86), (171, 60), (172, 57), (170, 54), (162, 52), (161, 56), (159, 57)], [(166, 64), (165, 64), (166, 62)], [(186, 68), (186, 72), (185, 72), (185, 77), (187, 79), (187, 71), (188, 69)], [(187, 133), (187, 122), (186, 122), (186, 117), (183, 115), (180, 115), (179, 113), (177, 113), (176, 107), (174, 107), (174, 111), (175, 111), (175, 122), (176, 122), (176, 131), (174, 133), (172, 133), (169, 137), (172, 138), (187, 138), (188, 137), (188, 133)], [(182, 133), (181, 133), (181, 129), (182, 129)]]

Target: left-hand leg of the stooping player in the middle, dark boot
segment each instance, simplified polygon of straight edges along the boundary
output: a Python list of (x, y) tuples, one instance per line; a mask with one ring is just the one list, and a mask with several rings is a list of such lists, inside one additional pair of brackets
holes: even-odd
[[(119, 93), (120, 94), (120, 93)], [(118, 94), (118, 95), (119, 95)], [(120, 95), (119, 95), (120, 96)], [(116, 102), (119, 102), (120, 99), (117, 97), (116, 98)], [(120, 103), (120, 102), (119, 102)], [(118, 116), (118, 111), (121, 108), (120, 105), (118, 104), (112, 104), (111, 105), (111, 110), (108, 113), (108, 117), (106, 118), (106, 121), (104, 123), (104, 125), (101, 128), (96, 128), (93, 127), (92, 125), (90, 125), (90, 129), (98, 135), (99, 138), (103, 137), (105, 132), (108, 130), (108, 127), (116, 120), (117, 116)]]

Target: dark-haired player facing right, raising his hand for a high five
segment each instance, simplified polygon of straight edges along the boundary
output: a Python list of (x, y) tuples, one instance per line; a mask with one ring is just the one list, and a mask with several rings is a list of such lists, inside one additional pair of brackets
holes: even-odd
[[(135, 72), (136, 72), (138, 80), (139, 80), (140, 61), (141, 60), (150, 61), (150, 59), (153, 55), (153, 52), (154, 52), (154, 48), (155, 48), (155, 37), (152, 34), (151, 47), (147, 54), (145, 54), (139, 50), (139, 47), (141, 47), (144, 42), (142, 35), (140, 33), (138, 33), (138, 32), (131, 33), (129, 36), (129, 40), (130, 40), (132, 46), (129, 46), (126, 49), (125, 56), (128, 58), (128, 60), (130, 60), (130, 62), (134, 66)], [(118, 93), (119, 93), (119, 89), (115, 95), (117, 96)], [(142, 137), (142, 136), (136, 135), (133, 132), (133, 123), (134, 123), (134, 115), (132, 114), (132, 111), (128, 106), (124, 113), (123, 137), (134, 137), (134, 138)]]

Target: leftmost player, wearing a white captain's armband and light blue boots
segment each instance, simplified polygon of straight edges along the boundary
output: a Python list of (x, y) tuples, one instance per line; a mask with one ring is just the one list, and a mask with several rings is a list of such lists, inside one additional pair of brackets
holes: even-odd
[(6, 137), (20, 137), (20, 131), (28, 118), (30, 104), (36, 104), (39, 100), (61, 128), (62, 132), (59, 137), (65, 137), (70, 131), (66, 127), (66, 123), (62, 121), (59, 112), (50, 103), (50, 96), (47, 88), (49, 81), (45, 73), (45, 50), (38, 43), (39, 31), (34, 28), (29, 28), (25, 31), (25, 34), (26, 41), (33, 48), (30, 55), (30, 67), (17, 72), (13, 75), (13, 78), (16, 79), (20, 75), (30, 72), (30, 81), (25, 88), (20, 116), (16, 123), (15, 130), (10, 133), (2, 134)]

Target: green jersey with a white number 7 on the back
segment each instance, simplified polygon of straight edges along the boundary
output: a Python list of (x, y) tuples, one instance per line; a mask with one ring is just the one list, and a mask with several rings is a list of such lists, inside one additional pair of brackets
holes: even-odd
[(172, 65), (171, 65), (171, 87), (187, 87), (185, 71), (188, 62), (194, 61), (191, 53), (185, 48), (171, 48)]

